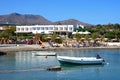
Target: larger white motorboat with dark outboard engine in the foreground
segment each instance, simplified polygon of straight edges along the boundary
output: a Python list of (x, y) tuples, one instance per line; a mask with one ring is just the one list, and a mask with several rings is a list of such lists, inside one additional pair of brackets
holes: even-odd
[(104, 64), (105, 60), (101, 57), (68, 57), (68, 56), (57, 56), (58, 61), (61, 64), (72, 63), (81, 65), (93, 65), (93, 64)]

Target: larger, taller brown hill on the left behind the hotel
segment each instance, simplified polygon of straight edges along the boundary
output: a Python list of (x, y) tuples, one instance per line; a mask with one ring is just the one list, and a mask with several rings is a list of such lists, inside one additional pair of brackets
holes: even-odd
[(51, 24), (51, 21), (39, 15), (12, 13), (0, 16), (0, 24)]

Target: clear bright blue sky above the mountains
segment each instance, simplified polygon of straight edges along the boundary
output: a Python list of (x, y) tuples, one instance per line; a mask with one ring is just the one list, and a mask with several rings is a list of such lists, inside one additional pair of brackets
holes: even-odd
[(120, 0), (1, 0), (0, 15), (11, 13), (41, 15), (52, 22), (120, 24)]

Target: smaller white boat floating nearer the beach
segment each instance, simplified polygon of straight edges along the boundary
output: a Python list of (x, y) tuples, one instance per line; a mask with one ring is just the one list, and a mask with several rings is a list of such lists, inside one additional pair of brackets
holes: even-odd
[(34, 56), (56, 56), (56, 52), (53, 51), (39, 51), (33, 54)]

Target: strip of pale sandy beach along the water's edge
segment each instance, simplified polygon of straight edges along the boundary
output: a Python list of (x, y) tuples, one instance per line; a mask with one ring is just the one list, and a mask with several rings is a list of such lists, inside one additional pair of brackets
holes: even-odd
[(45, 47), (40, 45), (0, 45), (1, 52), (17, 52), (17, 51), (49, 51), (49, 50), (77, 50), (77, 49), (120, 49), (120, 46), (101, 46), (101, 47)]

